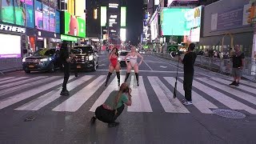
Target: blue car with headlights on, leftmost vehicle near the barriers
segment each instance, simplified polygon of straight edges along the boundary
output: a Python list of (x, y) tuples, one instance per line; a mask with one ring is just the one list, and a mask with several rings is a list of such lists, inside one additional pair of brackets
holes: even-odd
[(33, 55), (23, 58), (22, 66), (26, 73), (30, 73), (30, 71), (54, 72), (60, 66), (58, 53), (56, 53), (56, 49), (39, 49)]

